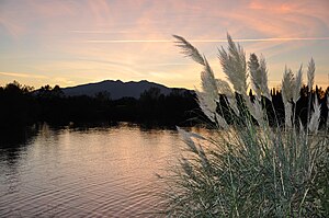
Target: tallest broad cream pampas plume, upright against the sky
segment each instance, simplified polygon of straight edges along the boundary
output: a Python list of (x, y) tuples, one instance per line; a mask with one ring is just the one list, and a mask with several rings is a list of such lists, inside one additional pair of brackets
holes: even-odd
[(218, 49), (218, 58), (224, 73), (234, 85), (236, 92), (247, 93), (247, 67), (246, 55), (239, 44), (235, 44), (229, 34), (227, 34), (228, 53), (222, 47)]

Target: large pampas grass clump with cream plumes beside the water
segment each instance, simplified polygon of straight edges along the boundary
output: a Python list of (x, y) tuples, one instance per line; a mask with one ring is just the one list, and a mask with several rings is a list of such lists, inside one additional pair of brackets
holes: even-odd
[[(252, 54), (247, 61), (243, 49), (228, 35), (228, 48), (218, 50), (227, 82), (215, 79), (195, 47), (183, 37), (174, 37), (183, 53), (204, 67), (202, 90), (196, 94), (214, 128), (207, 136), (179, 128), (186, 148), (180, 164), (163, 179), (163, 213), (173, 217), (328, 217), (328, 126), (319, 130), (316, 95), (309, 100), (307, 124), (296, 119), (302, 67), (296, 77), (285, 69), (285, 123), (280, 126), (275, 117), (273, 126), (266, 113), (271, 108), (275, 116), (264, 58)], [(311, 92), (313, 59), (307, 77)], [(248, 78), (256, 93), (253, 101), (247, 95)], [(220, 94), (228, 108), (220, 106)], [(227, 121), (224, 114), (234, 118)]]

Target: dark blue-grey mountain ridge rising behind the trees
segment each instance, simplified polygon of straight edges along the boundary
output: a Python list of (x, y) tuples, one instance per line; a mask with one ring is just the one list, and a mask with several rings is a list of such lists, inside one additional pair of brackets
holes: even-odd
[(77, 87), (63, 88), (63, 92), (67, 96), (88, 95), (94, 96), (100, 92), (107, 92), (112, 100), (117, 100), (124, 96), (138, 99), (139, 95), (150, 88), (158, 88), (164, 95), (169, 94), (172, 89), (162, 84), (141, 80), (139, 82), (123, 82), (121, 80), (105, 80), (97, 83), (80, 84)]

